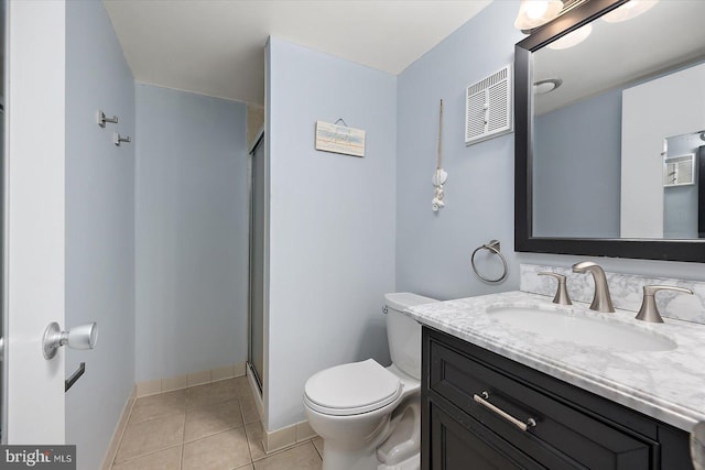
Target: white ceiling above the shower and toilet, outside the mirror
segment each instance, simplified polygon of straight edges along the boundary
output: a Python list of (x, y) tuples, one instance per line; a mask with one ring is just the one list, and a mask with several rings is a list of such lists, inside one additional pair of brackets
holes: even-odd
[(399, 74), (491, 0), (104, 0), (139, 81), (262, 103), (273, 35)]

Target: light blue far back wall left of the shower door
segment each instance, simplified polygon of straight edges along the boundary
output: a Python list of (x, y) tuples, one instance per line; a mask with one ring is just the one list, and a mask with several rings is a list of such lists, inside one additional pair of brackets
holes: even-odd
[(246, 107), (137, 84), (137, 381), (247, 359)]

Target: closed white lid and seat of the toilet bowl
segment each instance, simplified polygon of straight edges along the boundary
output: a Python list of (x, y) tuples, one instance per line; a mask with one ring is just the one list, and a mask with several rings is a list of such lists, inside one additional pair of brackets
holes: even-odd
[(401, 395), (397, 375), (372, 359), (336, 365), (308, 379), (304, 401), (316, 412), (347, 416), (381, 408)]

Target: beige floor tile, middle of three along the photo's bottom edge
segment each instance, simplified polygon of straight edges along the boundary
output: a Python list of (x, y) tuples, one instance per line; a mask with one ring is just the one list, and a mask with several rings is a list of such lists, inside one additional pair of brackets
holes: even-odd
[(245, 428), (240, 427), (185, 444), (182, 470), (230, 470), (250, 462)]

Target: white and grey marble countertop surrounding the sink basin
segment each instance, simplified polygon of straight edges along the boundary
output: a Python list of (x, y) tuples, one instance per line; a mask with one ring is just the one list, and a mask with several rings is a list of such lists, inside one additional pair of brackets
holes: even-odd
[[(664, 324), (634, 320), (634, 313), (601, 314), (588, 304), (553, 304), (552, 297), (524, 292), (482, 295), (409, 308), (405, 314), (532, 369), (590, 391), (632, 409), (691, 431), (705, 420), (705, 326), (665, 319)], [(538, 307), (565, 315), (586, 316), (629, 325), (648, 335), (666, 337), (677, 347), (668, 351), (627, 351), (584, 346), (571, 338), (556, 340), (527, 332), (492, 318), (489, 306)], [(575, 335), (581, 331), (576, 330)]]

